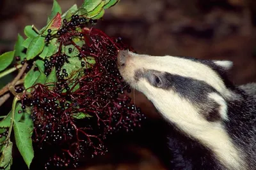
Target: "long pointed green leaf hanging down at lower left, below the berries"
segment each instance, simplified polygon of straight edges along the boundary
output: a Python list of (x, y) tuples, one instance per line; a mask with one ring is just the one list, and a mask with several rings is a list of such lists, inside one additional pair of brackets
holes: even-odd
[(29, 168), (34, 158), (31, 128), (24, 122), (14, 121), (13, 129), (17, 148)]

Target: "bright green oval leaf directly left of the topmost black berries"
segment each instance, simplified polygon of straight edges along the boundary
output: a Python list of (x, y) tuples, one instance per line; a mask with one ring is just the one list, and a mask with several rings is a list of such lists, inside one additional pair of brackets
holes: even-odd
[(42, 52), (42, 50), (44, 50), (44, 45), (44, 37), (36, 36), (33, 38), (28, 46), (27, 60), (33, 59), (36, 55)]

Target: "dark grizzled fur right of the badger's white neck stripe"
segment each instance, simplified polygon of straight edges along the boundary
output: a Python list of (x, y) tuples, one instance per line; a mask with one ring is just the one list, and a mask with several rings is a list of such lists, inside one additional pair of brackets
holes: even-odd
[[(256, 90), (256, 89), (255, 89)], [(226, 130), (238, 148), (243, 150), (249, 169), (256, 169), (256, 96), (237, 89), (240, 99), (228, 102), (229, 121)]]

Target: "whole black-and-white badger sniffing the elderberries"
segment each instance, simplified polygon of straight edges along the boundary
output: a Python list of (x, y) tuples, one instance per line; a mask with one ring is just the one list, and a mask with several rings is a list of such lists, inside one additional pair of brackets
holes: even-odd
[(256, 83), (234, 85), (231, 61), (120, 50), (117, 64), (173, 129), (168, 169), (256, 169)]

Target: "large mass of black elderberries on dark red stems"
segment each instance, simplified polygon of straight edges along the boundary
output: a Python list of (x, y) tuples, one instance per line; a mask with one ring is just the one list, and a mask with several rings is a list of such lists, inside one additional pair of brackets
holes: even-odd
[[(134, 131), (145, 119), (125, 94), (131, 89), (116, 66), (118, 50), (132, 49), (121, 38), (110, 38), (99, 29), (86, 29), (86, 22), (93, 24), (97, 20), (87, 21), (79, 15), (72, 16), (69, 22), (63, 20), (57, 32), (59, 51), (44, 60), (45, 74), (48, 76), (55, 67), (58, 82), (51, 86), (37, 84), (22, 98), (22, 110), (27, 106), (32, 110), (36, 152), (47, 152), (45, 169), (77, 166), (79, 158), (86, 154), (102, 155), (108, 151), (104, 139), (116, 131)], [(47, 42), (52, 31), (48, 33)], [(75, 37), (82, 39), (82, 46), (72, 40)], [(79, 51), (76, 57), (81, 60), (82, 76), (67, 78), (63, 65), (73, 52), (72, 48), (68, 53), (62, 51), (62, 46), (67, 45)], [(88, 56), (95, 64), (88, 62)], [(74, 90), (77, 85), (79, 88)]]

